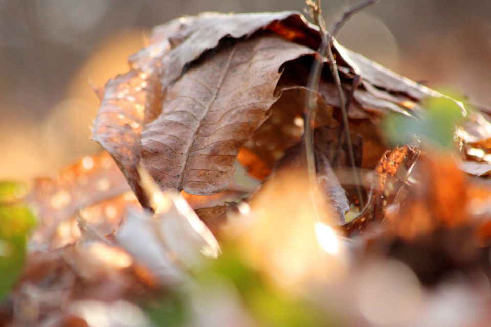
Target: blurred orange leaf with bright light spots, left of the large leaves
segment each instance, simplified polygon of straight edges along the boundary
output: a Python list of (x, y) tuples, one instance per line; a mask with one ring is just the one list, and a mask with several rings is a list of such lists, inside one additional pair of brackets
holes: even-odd
[[(39, 219), (32, 242), (52, 248), (54, 244), (50, 242), (64, 245), (73, 241), (73, 233), (77, 236), (78, 230), (77, 211), (82, 219), (102, 222), (103, 217), (118, 217), (126, 205), (139, 206), (132, 194), (118, 198), (129, 190), (124, 176), (106, 152), (82, 158), (55, 178), (36, 179), (26, 198)], [(84, 210), (92, 211), (91, 217), (84, 218)], [(108, 221), (104, 219), (103, 223)]]

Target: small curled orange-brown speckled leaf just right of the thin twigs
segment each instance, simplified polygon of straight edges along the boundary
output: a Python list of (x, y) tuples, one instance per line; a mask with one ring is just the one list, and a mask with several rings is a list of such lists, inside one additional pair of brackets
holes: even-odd
[(396, 200), (418, 158), (419, 151), (409, 146), (387, 151), (382, 156), (375, 169), (367, 205), (360, 215), (343, 225), (347, 235), (356, 235), (370, 224), (384, 220), (385, 208)]

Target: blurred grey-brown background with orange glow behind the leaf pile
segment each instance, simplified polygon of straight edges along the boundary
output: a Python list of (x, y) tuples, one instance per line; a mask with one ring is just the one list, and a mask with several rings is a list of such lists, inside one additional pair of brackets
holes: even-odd
[[(328, 24), (348, 0), (323, 0)], [(0, 179), (52, 175), (99, 150), (88, 126), (102, 87), (158, 24), (202, 11), (303, 11), (302, 0), (0, 0)], [(491, 107), (489, 0), (380, 0), (339, 35), (430, 87)]]

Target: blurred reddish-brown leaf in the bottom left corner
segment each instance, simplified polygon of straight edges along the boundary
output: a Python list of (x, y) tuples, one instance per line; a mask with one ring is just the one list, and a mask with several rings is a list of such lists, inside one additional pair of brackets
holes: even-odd
[[(81, 299), (113, 302), (155, 291), (154, 277), (121, 248), (105, 242), (75, 243), (53, 251), (32, 251), (13, 293), (15, 325), (58, 326)], [(28, 310), (42, 314), (26, 314)]]

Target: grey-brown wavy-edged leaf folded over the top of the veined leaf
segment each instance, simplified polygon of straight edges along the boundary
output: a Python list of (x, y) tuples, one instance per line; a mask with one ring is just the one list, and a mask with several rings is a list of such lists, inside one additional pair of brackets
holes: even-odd
[[(271, 29), (289, 40), (317, 36), (295, 11), (250, 14), (206, 12), (184, 16), (154, 28), (150, 45), (131, 57), (135, 69), (149, 73), (158, 67), (164, 87), (180, 78), (185, 66), (205, 51), (215, 48), (224, 37), (249, 37), (261, 29)], [(301, 31), (302, 30), (302, 31)]]

